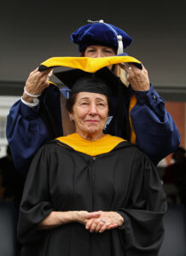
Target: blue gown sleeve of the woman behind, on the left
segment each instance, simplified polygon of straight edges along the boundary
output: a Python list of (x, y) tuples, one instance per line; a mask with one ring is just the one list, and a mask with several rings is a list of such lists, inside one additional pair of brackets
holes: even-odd
[(19, 172), (26, 174), (33, 155), (48, 138), (39, 106), (30, 108), (20, 100), (15, 102), (7, 117), (7, 139)]

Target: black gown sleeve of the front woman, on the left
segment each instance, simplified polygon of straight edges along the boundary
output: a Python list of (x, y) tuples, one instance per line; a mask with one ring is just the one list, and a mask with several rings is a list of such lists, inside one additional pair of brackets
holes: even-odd
[[(54, 159), (51, 165), (53, 164)], [(47, 149), (40, 148), (29, 168), (20, 203), (18, 238), (21, 243), (40, 241), (43, 237), (44, 232), (36, 227), (53, 210), (49, 198), (48, 177), (51, 165)]]

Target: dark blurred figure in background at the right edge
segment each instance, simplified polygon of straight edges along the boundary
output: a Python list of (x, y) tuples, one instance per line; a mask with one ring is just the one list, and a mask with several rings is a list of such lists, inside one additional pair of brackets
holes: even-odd
[(182, 147), (172, 154), (174, 163), (167, 166), (163, 181), (168, 201), (186, 205), (186, 157)]

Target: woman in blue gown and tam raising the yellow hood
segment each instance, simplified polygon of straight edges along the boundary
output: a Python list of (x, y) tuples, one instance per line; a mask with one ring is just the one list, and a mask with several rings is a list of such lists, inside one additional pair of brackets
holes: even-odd
[[(92, 58), (121, 54), (132, 42), (127, 33), (103, 20), (90, 21), (78, 28), (71, 40), (78, 44), (81, 56)], [(124, 85), (125, 90), (121, 91), (122, 109), (118, 108), (118, 98), (112, 97), (113, 111), (104, 133), (136, 143), (156, 165), (177, 149), (180, 143), (177, 127), (165, 109), (164, 100), (149, 83), (145, 67), (119, 64), (110, 68), (122, 80), (121, 73), (125, 71), (125, 85), (130, 85)], [(50, 75), (51, 70), (39, 72), (38, 68), (30, 73), (21, 100), (9, 111), (7, 137), (15, 166), (23, 173), (27, 172), (38, 148), (50, 139), (67, 134), (61, 98), (68, 91), (49, 84)]]

